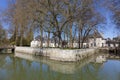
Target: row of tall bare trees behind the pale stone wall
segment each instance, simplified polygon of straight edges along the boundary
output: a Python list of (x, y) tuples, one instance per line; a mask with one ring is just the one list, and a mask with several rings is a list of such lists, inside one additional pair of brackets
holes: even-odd
[(96, 9), (97, 1), (9, 0), (4, 20), (11, 25), (9, 32), (15, 45), (29, 45), (34, 31), (38, 30), (42, 43), (43, 34), (47, 33), (48, 46), (52, 36), (59, 46), (67, 40), (72, 48), (77, 39), (82, 48), (88, 35), (98, 30), (105, 20)]

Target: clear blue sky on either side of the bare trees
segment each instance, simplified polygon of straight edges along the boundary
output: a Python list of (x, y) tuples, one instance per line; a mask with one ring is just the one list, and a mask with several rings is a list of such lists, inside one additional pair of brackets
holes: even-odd
[[(101, 30), (104, 38), (113, 38), (117, 36), (117, 33), (114, 29), (115, 24), (112, 22), (111, 15), (112, 13), (109, 10), (106, 10), (101, 5), (98, 6), (98, 11), (106, 18), (106, 24), (104, 24), (104, 28)], [(0, 10), (4, 10), (7, 7), (7, 0), (0, 0)], [(4, 28), (8, 28), (8, 25), (3, 23)]]

